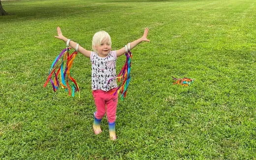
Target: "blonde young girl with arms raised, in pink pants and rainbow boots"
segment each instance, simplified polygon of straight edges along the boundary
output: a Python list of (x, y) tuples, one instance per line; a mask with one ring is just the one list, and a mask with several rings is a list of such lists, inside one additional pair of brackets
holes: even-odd
[[(147, 39), (149, 28), (145, 28), (144, 34), (141, 38), (128, 43), (128, 46), (133, 49), (142, 41), (150, 42)], [(107, 120), (109, 124), (109, 137), (111, 140), (116, 139), (115, 133), (115, 121), (116, 121), (116, 110), (118, 103), (118, 95), (111, 94), (113, 90), (117, 88), (116, 79), (116, 59), (120, 55), (126, 53), (126, 47), (120, 50), (111, 51), (111, 38), (105, 31), (96, 32), (93, 36), (92, 48), (93, 51), (88, 51), (79, 44), (70, 41), (62, 35), (60, 27), (57, 27), (58, 36), (67, 45), (73, 49), (77, 49), (78, 52), (82, 53), (86, 57), (89, 57), (92, 62), (92, 90), (93, 97), (96, 105), (96, 112), (94, 113), (94, 124), (93, 130), (95, 134), (101, 133), (100, 122), (105, 113), (107, 113)], [(108, 80), (112, 79), (110, 82)]]

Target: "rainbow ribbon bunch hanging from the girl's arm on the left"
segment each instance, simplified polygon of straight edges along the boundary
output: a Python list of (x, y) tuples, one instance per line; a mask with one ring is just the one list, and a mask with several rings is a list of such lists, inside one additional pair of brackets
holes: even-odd
[[(77, 55), (77, 52), (73, 52), (69, 55), (70, 47), (66, 47), (53, 61), (49, 70), (48, 78), (45, 81), (43, 87), (46, 87), (48, 82), (52, 83), (53, 91), (56, 92), (61, 85), (68, 91), (68, 95), (74, 97), (75, 92), (79, 92), (79, 87), (76, 80), (71, 77), (70, 69), (73, 61)], [(61, 63), (58, 63), (61, 60)], [(52, 80), (52, 77), (54, 80)], [(59, 79), (58, 79), (59, 77)]]

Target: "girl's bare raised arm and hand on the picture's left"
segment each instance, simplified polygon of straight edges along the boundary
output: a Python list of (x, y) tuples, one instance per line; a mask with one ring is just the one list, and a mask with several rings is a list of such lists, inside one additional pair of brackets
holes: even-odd
[[(61, 31), (61, 28), (60, 27), (57, 27), (57, 33), (58, 33), (58, 36), (55, 36), (55, 38), (58, 38), (58, 39), (61, 39), (63, 40), (64, 42), (66, 42), (68, 39), (66, 37), (64, 37), (62, 35), (62, 31)], [(76, 48), (76, 43), (73, 42), (73, 41), (70, 41), (69, 42), (69, 46), (73, 49)], [(78, 46), (78, 52), (82, 53), (84, 56), (86, 57), (90, 57), (91, 55), (91, 51), (88, 51), (86, 49), (84, 49), (83, 47), (81, 47), (80, 45)]]

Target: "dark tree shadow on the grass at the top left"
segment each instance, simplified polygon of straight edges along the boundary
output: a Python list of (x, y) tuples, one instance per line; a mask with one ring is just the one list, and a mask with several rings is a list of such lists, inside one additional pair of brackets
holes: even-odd
[[(12, 2), (14, 3), (14, 2)], [(50, 19), (55, 17), (69, 17), (69, 16), (90, 16), (91, 14), (104, 14), (109, 11), (108, 4), (95, 5), (87, 3), (48, 3), (48, 4), (12, 4), (13, 10), (5, 7), (7, 16), (1, 16), (3, 22), (26, 21), (31, 19)]]

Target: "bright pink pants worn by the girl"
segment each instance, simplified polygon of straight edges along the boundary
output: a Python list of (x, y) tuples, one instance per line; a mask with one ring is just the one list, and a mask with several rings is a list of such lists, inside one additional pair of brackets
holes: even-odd
[(95, 117), (97, 119), (102, 119), (107, 112), (108, 122), (112, 123), (116, 121), (118, 94), (112, 95), (114, 89), (111, 89), (109, 91), (93, 91), (94, 101), (96, 105)]

